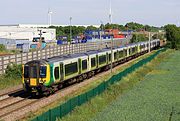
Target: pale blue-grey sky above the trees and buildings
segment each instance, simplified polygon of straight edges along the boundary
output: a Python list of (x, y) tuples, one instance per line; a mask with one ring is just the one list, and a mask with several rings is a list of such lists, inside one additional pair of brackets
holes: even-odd
[[(109, 22), (110, 0), (0, 0), (0, 24), (98, 25)], [(111, 0), (112, 22), (180, 26), (180, 0)]]

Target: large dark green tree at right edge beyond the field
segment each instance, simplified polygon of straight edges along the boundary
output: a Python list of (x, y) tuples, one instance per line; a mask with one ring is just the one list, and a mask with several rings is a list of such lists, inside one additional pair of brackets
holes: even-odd
[(180, 49), (180, 28), (176, 25), (166, 25), (166, 37), (172, 49)]

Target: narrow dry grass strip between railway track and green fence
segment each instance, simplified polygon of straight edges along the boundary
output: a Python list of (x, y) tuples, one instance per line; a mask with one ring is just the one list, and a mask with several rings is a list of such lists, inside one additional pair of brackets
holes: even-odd
[[(154, 51), (155, 52), (155, 51)], [(139, 58), (137, 58), (136, 60), (132, 61), (132, 62), (129, 62), (128, 64), (124, 64), (122, 65), (121, 67), (117, 68), (116, 71), (113, 71), (114, 74), (124, 70), (125, 68), (128, 68), (130, 67), (132, 64), (138, 62), (139, 60), (143, 59), (143, 58), (146, 58), (147, 56), (149, 55), (152, 55), (154, 52), (152, 52), (151, 54), (147, 54), (147, 55), (144, 55), (144, 56), (141, 56)], [(101, 82), (103, 82), (104, 80), (107, 80), (111, 77), (111, 74), (107, 74), (107, 75), (103, 75), (103, 77), (99, 77), (98, 80), (96, 81), (93, 81), (92, 83), (88, 84), (87, 86), (85, 87), (82, 87), (80, 88), (77, 92), (74, 92), (72, 93), (71, 95), (68, 95), (66, 96), (65, 98), (63, 99), (59, 99), (57, 101), (55, 101), (54, 103), (44, 107), (44, 108), (41, 108), (40, 110), (38, 110), (37, 112), (30, 112), (25, 118), (24, 120), (31, 120), (33, 118), (35, 118), (36, 116), (48, 111), (49, 109), (52, 109), (54, 107), (57, 107), (58, 105), (62, 104), (63, 102), (67, 101), (68, 99), (72, 98), (72, 97), (75, 97), (83, 92), (86, 92), (94, 87), (96, 87), (98, 84), (100, 84)]]

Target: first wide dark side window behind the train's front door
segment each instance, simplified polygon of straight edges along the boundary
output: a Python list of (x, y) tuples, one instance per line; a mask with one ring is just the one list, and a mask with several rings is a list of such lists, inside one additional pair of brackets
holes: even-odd
[(65, 65), (65, 76), (78, 72), (77, 62)]

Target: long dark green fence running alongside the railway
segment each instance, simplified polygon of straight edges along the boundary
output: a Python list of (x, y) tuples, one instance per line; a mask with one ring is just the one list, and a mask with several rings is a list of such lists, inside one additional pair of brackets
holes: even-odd
[(120, 81), (123, 77), (127, 76), (129, 73), (132, 73), (136, 69), (142, 67), (144, 64), (147, 64), (163, 51), (165, 51), (165, 49), (158, 50), (155, 54), (145, 59), (142, 59), (141, 61), (126, 68), (122, 72), (113, 75), (109, 80), (102, 82), (97, 87), (68, 100), (64, 104), (61, 104), (53, 109), (48, 110), (40, 116), (37, 116), (33, 119), (33, 121), (56, 121), (57, 118), (64, 117), (65, 115), (70, 113), (75, 107), (80, 106), (91, 100), (93, 97), (103, 93), (110, 85)]

